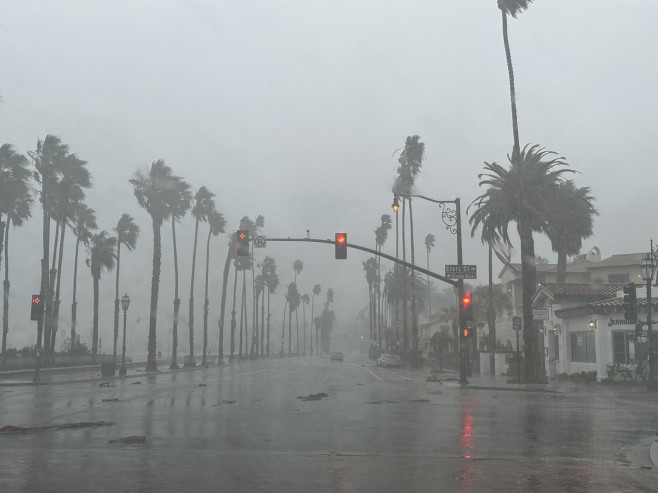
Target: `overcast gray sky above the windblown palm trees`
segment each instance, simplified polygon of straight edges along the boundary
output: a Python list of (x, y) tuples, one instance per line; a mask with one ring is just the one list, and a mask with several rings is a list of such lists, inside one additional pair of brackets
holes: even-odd
[[(461, 198), (464, 262), (477, 264), (485, 281), (486, 249), (470, 238), (465, 209), (480, 193), (483, 162), (506, 163), (512, 145), (495, 0), (9, 0), (0, 13), (1, 143), (25, 152), (39, 137), (60, 136), (89, 162), (95, 187), (87, 202), (100, 228), (111, 230), (123, 212), (142, 227), (136, 251), (122, 255), (122, 291), (134, 300), (129, 316), (142, 319), (136, 344), (145, 340), (152, 234), (127, 180), (159, 158), (195, 188), (217, 194), (229, 231), (242, 216), (263, 214), (270, 237), (346, 231), (350, 242), (372, 246), (381, 215), (391, 213), (395, 151), (418, 134), (426, 161), (417, 191)], [(604, 257), (647, 250), (654, 234), (656, 18), (653, 0), (536, 0), (509, 23), (521, 143), (558, 152), (580, 172), (577, 184), (592, 188), (600, 216), (584, 249), (599, 246)], [(416, 201), (414, 213), (418, 262), (425, 263), (423, 239), (432, 233), (430, 263), (442, 272), (456, 263), (455, 238), (437, 206)], [(34, 343), (34, 324), (25, 321), (39, 285), (41, 213), (33, 214), (10, 237), (12, 330), (20, 332), (10, 334), (10, 346)], [(173, 299), (169, 231), (163, 228), (163, 324)], [(186, 313), (189, 218), (181, 232)], [(206, 234), (202, 227), (201, 245)], [(393, 230), (385, 251), (394, 252), (394, 239)], [(537, 254), (555, 261), (548, 242), (536, 242)], [(223, 239), (213, 244), (211, 334), (226, 255)], [(271, 243), (257, 251), (257, 258), (277, 260), (279, 314), (292, 262), (301, 259), (300, 290), (310, 293), (319, 283), (324, 299), (333, 287), (339, 328), (347, 328), (367, 303), (367, 256), (350, 251), (347, 261), (336, 261), (332, 249)], [(199, 254), (202, 272), (203, 248)], [(82, 262), (80, 271), (84, 341), (91, 276)], [(64, 266), (64, 329), (71, 272), (72, 256)], [(101, 286), (104, 344), (112, 276)], [(203, 275), (197, 279), (200, 334)], [(163, 324), (158, 345), (166, 350)]]

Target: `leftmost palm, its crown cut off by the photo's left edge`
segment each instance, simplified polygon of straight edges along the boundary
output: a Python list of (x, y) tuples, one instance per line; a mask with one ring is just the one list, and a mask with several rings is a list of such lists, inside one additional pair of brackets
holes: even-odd
[[(7, 350), (9, 332), (9, 227), (19, 227), (31, 216), (32, 195), (29, 189), (30, 170), (28, 160), (14, 151), (11, 144), (0, 147), (0, 256), (5, 255), (5, 279), (3, 282), (2, 307), (2, 366)], [(6, 221), (2, 221), (3, 215)]]

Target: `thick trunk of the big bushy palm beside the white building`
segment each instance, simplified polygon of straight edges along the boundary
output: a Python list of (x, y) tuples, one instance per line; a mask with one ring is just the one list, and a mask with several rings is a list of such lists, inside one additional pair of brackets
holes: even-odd
[[(518, 224), (521, 241), (521, 279), (523, 283), (523, 344), (525, 354), (526, 379), (539, 381), (539, 357), (537, 355), (537, 329), (532, 314), (532, 298), (537, 289), (537, 266), (535, 265), (535, 242), (532, 230)], [(520, 376), (519, 376), (520, 377)]]

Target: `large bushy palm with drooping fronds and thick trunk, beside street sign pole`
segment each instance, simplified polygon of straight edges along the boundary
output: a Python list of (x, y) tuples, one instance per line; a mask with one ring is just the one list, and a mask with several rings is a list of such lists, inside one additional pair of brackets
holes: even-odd
[[(526, 353), (526, 375), (531, 381), (540, 379), (540, 360), (537, 355), (537, 330), (533, 323), (532, 297), (536, 289), (537, 268), (533, 232), (546, 232), (561, 211), (558, 186), (568, 164), (563, 158), (552, 158), (554, 152), (538, 146), (525, 146), (517, 157), (508, 156), (509, 169), (499, 164), (486, 163), (485, 173), (479, 175), (480, 186), (487, 190), (475, 198), (476, 205), (469, 222), (471, 233), (482, 227), (483, 238), (498, 235), (501, 242), (511, 245), (508, 228), (515, 222), (521, 243), (523, 285), (523, 340)], [(470, 206), (469, 206), (470, 207)], [(556, 217), (555, 221), (559, 220)]]

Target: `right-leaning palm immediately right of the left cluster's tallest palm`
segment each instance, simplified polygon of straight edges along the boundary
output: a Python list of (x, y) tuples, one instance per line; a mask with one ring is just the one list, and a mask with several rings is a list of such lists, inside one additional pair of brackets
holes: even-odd
[[(64, 255), (64, 234), (66, 225), (75, 220), (75, 205), (85, 199), (84, 189), (91, 188), (91, 173), (87, 162), (75, 154), (69, 154), (62, 162), (61, 177), (54, 186), (54, 201), (51, 216), (56, 222), (55, 242), (53, 245), (53, 266), (50, 270), (50, 289), (55, 294), (52, 326), (50, 329), (50, 353), (55, 353), (55, 338), (59, 327), (59, 307), (62, 279), (62, 261)], [(57, 235), (59, 234), (59, 245)], [(59, 258), (55, 269), (55, 258), (59, 248)], [(55, 285), (53, 285), (55, 283)], [(53, 291), (54, 289), (54, 291)]]

